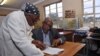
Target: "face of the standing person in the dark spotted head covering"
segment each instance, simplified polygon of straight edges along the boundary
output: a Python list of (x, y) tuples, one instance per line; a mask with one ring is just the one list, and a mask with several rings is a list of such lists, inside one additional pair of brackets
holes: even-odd
[(39, 16), (31, 13), (27, 13), (26, 18), (30, 26), (33, 26), (39, 20)]

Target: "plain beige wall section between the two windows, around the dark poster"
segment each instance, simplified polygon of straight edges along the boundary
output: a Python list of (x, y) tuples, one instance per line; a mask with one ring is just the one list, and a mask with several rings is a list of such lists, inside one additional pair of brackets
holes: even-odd
[(62, 2), (63, 12), (65, 12), (65, 10), (74, 10), (76, 17), (82, 16), (82, 0), (62, 0)]

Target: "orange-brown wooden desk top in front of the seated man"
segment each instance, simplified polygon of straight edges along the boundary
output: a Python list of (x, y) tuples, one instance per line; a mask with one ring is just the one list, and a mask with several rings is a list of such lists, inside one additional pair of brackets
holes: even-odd
[(74, 56), (84, 46), (85, 46), (85, 44), (82, 44), (82, 43), (65, 42), (63, 45), (59, 46), (59, 48), (63, 48), (64, 51), (62, 53), (60, 53), (58, 56)]

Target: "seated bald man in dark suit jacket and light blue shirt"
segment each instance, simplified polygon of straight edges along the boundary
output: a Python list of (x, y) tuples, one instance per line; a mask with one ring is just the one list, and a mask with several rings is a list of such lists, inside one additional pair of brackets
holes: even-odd
[(50, 18), (43, 21), (43, 25), (39, 29), (34, 29), (33, 38), (41, 41), (46, 46), (58, 46), (65, 42), (65, 37), (60, 36), (58, 31), (52, 28), (53, 22)]

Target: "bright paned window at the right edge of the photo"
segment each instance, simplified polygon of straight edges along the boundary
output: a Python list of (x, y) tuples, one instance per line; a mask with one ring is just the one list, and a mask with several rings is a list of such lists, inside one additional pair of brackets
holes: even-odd
[(84, 25), (89, 26), (90, 22), (94, 26), (100, 27), (100, 0), (83, 0)]

